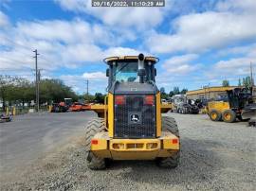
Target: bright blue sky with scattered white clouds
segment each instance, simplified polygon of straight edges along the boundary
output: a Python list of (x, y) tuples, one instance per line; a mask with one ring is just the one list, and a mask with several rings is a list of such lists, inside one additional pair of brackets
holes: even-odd
[[(110, 56), (155, 56), (158, 87), (237, 85), (256, 72), (255, 0), (166, 0), (164, 8), (92, 8), (91, 0), (0, 0), (0, 74), (61, 78), (105, 93)], [(254, 75), (255, 76), (255, 75)], [(255, 77), (254, 77), (255, 78)]]

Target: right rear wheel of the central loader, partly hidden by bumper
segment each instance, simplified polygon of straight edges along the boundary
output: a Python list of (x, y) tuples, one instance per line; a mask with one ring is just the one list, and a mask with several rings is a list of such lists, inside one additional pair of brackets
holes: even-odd
[[(179, 137), (179, 131), (175, 119), (173, 117), (162, 117), (162, 130), (169, 130), (175, 136)], [(167, 158), (157, 158), (156, 164), (160, 167), (174, 168), (179, 164), (180, 151), (177, 150), (173, 156)]]

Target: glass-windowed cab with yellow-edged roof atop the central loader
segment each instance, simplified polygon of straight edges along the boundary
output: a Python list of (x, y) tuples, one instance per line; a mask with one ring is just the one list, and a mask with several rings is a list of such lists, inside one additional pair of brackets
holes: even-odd
[(155, 83), (155, 63), (158, 59), (155, 57), (144, 58), (143, 55), (140, 57), (140, 60), (143, 61), (142, 65), (139, 62), (139, 56), (111, 57), (105, 59), (104, 62), (108, 65), (108, 69), (106, 70), (106, 77), (108, 77), (108, 89), (117, 82), (138, 83), (142, 80), (143, 83)]

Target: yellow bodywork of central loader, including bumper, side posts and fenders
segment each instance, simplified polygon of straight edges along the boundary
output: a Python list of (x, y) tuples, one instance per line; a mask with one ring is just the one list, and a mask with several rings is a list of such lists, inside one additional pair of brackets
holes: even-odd
[(172, 110), (172, 105), (161, 104), (160, 93), (156, 98), (156, 138), (116, 139), (114, 138), (114, 96), (108, 94), (104, 105), (92, 105), (91, 110), (104, 117), (106, 131), (98, 132), (92, 139), (91, 150), (101, 158), (114, 160), (155, 160), (170, 157), (180, 147), (179, 138), (170, 131), (162, 131), (161, 113)]

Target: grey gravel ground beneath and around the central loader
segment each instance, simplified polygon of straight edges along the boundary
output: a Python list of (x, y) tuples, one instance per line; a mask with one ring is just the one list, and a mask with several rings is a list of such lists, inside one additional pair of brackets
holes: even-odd
[(255, 190), (255, 128), (212, 122), (206, 115), (168, 114), (181, 136), (181, 164), (175, 169), (130, 161), (92, 171), (80, 135), (12, 180), (2, 179), (1, 190)]

